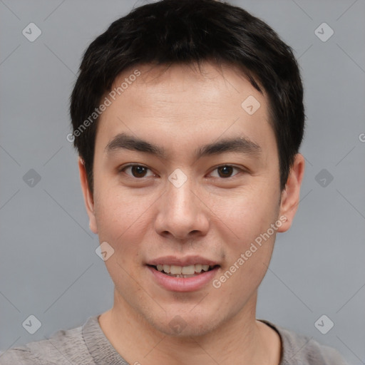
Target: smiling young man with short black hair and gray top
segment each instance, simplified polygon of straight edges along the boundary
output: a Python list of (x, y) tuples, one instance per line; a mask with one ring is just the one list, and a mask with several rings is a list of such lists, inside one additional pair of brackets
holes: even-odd
[(134, 9), (88, 47), (71, 119), (114, 305), (0, 364), (344, 364), (255, 317), (304, 174), (302, 82), (267, 24), (213, 0)]

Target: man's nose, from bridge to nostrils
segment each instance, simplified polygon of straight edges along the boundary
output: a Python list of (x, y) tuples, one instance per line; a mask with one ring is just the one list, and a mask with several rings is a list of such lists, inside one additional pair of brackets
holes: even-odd
[(159, 200), (156, 232), (180, 241), (206, 235), (210, 220), (205, 204), (190, 179), (180, 187), (168, 182), (167, 191)]

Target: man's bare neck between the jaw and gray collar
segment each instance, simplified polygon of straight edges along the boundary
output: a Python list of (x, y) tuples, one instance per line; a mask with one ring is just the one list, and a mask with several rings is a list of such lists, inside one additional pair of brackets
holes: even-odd
[(101, 314), (104, 334), (129, 364), (277, 365), (279, 335), (255, 319), (257, 293), (234, 317), (202, 336), (167, 336), (152, 327), (115, 292), (114, 306)]

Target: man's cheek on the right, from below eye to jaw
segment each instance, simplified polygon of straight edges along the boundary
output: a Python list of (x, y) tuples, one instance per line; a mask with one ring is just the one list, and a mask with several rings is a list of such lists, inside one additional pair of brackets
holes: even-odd
[(252, 292), (264, 277), (277, 232), (272, 225), (279, 227), (278, 199), (278, 191), (272, 187), (255, 187), (220, 205), (220, 227), (227, 250), (220, 281), (227, 282), (227, 290), (240, 288), (231, 293), (235, 297)]

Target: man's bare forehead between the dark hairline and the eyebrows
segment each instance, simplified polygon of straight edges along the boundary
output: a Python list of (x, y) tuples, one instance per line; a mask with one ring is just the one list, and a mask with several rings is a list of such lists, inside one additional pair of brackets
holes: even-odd
[(220, 136), (242, 136), (258, 145), (274, 138), (267, 97), (232, 66), (136, 66), (115, 79), (111, 92), (98, 123), (99, 147), (123, 132), (155, 144), (164, 140), (175, 149)]

